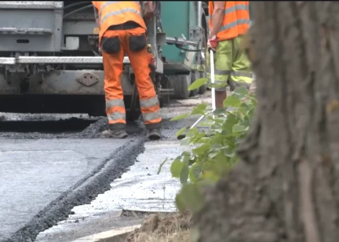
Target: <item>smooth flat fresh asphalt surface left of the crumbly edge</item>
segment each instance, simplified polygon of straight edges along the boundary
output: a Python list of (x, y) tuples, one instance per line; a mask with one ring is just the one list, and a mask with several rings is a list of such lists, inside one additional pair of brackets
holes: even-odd
[(88, 176), (129, 140), (0, 140), (0, 239)]

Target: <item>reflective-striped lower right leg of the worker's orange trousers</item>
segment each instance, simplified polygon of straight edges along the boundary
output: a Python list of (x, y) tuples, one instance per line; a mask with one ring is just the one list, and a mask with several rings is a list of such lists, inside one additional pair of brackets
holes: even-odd
[(158, 97), (140, 100), (140, 108), (145, 124), (158, 123), (160, 119), (160, 104)]

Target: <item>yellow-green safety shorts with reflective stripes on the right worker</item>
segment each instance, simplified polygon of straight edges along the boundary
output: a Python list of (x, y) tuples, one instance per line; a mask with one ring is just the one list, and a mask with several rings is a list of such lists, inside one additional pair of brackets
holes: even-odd
[[(251, 62), (243, 48), (242, 36), (218, 42), (214, 53), (214, 77), (218, 87), (216, 91), (224, 91), (229, 84), (231, 91), (239, 86), (250, 88), (252, 83)], [(211, 82), (211, 57), (206, 53), (207, 77)]]

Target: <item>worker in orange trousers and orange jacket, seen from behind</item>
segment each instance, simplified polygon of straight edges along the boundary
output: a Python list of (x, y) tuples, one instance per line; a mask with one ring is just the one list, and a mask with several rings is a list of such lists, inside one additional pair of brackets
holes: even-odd
[(104, 65), (104, 89), (109, 130), (104, 137), (126, 138), (126, 115), (121, 87), (123, 59), (127, 53), (136, 77), (142, 116), (150, 139), (160, 139), (160, 105), (149, 73), (144, 18), (154, 14), (152, 2), (93, 1), (99, 25), (99, 45)]

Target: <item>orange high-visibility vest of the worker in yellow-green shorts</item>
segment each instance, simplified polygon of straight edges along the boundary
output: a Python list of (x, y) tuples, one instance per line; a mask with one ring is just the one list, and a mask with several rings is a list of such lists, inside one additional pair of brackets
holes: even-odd
[[(212, 29), (213, 1), (209, 1), (209, 24)], [(250, 28), (249, 1), (226, 1), (222, 25), (217, 40), (230, 40), (244, 34)]]

